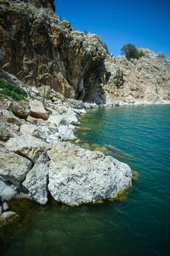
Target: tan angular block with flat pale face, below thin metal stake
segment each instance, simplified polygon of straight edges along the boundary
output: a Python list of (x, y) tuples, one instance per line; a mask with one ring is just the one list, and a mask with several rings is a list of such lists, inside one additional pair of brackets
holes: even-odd
[(49, 116), (47, 115), (47, 112), (40, 101), (30, 100), (29, 104), (31, 108), (31, 116), (35, 118), (42, 118), (43, 120), (48, 119)]

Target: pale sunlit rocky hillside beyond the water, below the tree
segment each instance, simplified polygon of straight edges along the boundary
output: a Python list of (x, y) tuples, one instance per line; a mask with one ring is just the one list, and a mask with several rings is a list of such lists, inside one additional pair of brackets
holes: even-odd
[[(104, 97), (134, 102), (170, 99), (170, 59), (163, 53), (140, 48), (144, 57), (128, 61), (124, 56), (107, 55)], [(114, 63), (114, 64), (113, 64)]]

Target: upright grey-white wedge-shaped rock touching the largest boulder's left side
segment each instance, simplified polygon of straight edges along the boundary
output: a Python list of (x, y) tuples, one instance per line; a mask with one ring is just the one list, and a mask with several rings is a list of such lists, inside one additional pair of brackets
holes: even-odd
[(45, 164), (35, 164), (23, 182), (23, 186), (28, 189), (34, 200), (40, 204), (45, 204), (48, 201), (48, 171), (49, 168)]

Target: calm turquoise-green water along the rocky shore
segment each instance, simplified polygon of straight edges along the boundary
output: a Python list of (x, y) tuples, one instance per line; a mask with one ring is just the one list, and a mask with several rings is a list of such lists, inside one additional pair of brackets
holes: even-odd
[(133, 186), (102, 204), (11, 201), (21, 221), (1, 236), (2, 255), (170, 255), (170, 105), (87, 111), (78, 145), (130, 165)]

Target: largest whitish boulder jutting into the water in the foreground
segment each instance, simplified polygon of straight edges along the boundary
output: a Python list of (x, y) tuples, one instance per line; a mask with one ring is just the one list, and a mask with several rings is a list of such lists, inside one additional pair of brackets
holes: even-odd
[(100, 151), (71, 143), (57, 143), (50, 157), (49, 191), (56, 201), (78, 205), (95, 203), (125, 189), (132, 179), (130, 167)]

